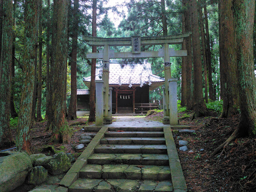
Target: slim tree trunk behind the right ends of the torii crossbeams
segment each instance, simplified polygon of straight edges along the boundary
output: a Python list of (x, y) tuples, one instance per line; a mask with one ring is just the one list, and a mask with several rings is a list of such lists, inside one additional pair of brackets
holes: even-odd
[[(184, 6), (184, 4), (182, 4)], [(185, 32), (185, 17), (182, 14), (182, 33)], [(182, 42), (182, 50), (186, 49), (186, 40)], [(186, 57), (181, 58), (181, 106), (186, 105)]]

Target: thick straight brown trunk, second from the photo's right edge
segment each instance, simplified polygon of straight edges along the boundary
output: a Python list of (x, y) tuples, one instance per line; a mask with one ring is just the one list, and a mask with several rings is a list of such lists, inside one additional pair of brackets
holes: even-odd
[(232, 0), (220, 0), (218, 5), (220, 92), (223, 99), (220, 117), (223, 118), (237, 111), (237, 54)]

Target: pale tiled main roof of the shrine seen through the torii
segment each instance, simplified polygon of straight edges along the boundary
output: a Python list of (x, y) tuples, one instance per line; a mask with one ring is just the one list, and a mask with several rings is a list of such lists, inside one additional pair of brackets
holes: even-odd
[[(96, 80), (101, 80), (102, 67), (96, 69)], [(83, 81), (86, 84), (90, 82), (89, 77), (83, 77)], [(88, 83), (86, 83), (88, 82)], [(161, 85), (164, 82), (164, 78), (152, 74), (151, 64), (146, 60), (142, 63), (127, 63), (120, 64), (120, 60), (110, 59), (109, 64), (109, 85), (117, 84), (148, 84), (149, 82)], [(149, 84), (151, 84), (149, 83)]]

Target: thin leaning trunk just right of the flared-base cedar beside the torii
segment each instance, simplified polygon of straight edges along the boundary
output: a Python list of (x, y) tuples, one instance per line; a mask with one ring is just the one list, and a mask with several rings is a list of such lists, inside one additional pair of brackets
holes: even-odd
[(207, 60), (207, 71), (208, 71), (208, 84), (209, 84), (209, 99), (214, 100), (212, 92), (212, 75), (211, 75), (211, 53), (210, 53), (210, 37), (209, 37), (209, 26), (208, 26), (208, 16), (206, 9), (206, 0), (203, 6), (204, 10), (204, 20), (205, 20), (205, 34), (206, 34), (206, 60)]

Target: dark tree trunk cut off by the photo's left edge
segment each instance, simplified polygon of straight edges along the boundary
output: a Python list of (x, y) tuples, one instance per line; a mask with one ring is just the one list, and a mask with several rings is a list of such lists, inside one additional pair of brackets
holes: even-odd
[(9, 127), (10, 64), (12, 51), (12, 0), (2, 2), (3, 33), (0, 60), (0, 146), (13, 143)]

